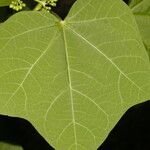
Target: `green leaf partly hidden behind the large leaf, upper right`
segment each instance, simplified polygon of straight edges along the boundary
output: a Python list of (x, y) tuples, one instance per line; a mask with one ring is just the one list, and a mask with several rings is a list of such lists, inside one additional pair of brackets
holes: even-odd
[(130, 7), (135, 15), (143, 43), (150, 57), (150, 1), (142, 0), (140, 3), (135, 3), (134, 7), (132, 5)]

